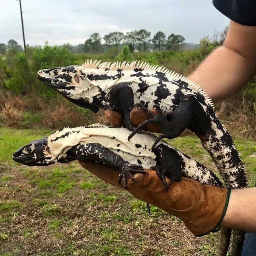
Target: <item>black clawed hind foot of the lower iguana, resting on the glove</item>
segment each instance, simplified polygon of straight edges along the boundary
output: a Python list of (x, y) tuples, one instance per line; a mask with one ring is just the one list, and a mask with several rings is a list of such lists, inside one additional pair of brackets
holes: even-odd
[[(152, 166), (150, 169), (155, 170), (158, 174), (159, 178), (162, 180), (163, 185), (165, 186), (165, 190), (168, 192), (169, 187), (172, 185), (174, 181), (181, 181), (182, 174), (176, 168), (173, 167), (162, 167), (159, 165)], [(165, 176), (167, 176), (171, 181), (169, 185), (165, 180)]]

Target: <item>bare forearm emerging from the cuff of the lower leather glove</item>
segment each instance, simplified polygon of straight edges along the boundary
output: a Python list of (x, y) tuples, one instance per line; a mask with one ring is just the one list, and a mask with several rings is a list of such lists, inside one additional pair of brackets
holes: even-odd
[(256, 187), (231, 190), (221, 226), (256, 232)]

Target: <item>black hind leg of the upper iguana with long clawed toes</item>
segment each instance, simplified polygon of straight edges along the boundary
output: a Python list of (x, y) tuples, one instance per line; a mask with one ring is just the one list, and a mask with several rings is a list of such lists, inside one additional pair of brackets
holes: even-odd
[(177, 105), (174, 111), (170, 115), (154, 115), (148, 110), (147, 114), (152, 116), (152, 119), (145, 120), (129, 135), (130, 140), (134, 134), (138, 132), (142, 127), (150, 123), (156, 123), (160, 126), (161, 132), (152, 149), (157, 143), (163, 139), (174, 139), (178, 137), (186, 128), (189, 128), (196, 134), (200, 133), (201, 136), (208, 133), (208, 128), (211, 127), (210, 119), (205, 114), (201, 104), (195, 98), (194, 95), (188, 94), (183, 97), (181, 102)]

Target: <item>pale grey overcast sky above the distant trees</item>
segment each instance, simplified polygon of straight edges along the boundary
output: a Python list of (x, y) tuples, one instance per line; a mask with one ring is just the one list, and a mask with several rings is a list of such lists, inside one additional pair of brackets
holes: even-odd
[[(0, 0), (0, 43), (9, 39), (23, 45), (19, 2)], [(84, 43), (94, 32), (126, 33), (146, 29), (151, 36), (163, 31), (181, 34), (187, 43), (199, 43), (222, 31), (228, 18), (211, 0), (22, 0), (26, 44)], [(103, 42), (103, 40), (102, 40)]]

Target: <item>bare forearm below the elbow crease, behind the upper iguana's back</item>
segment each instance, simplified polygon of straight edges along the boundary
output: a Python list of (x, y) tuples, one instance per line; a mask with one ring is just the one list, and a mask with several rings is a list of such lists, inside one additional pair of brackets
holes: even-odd
[(198, 83), (217, 102), (235, 94), (252, 79), (254, 72), (249, 60), (221, 46), (201, 63), (189, 79)]

